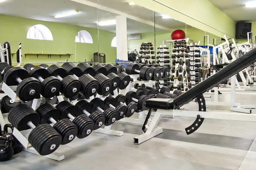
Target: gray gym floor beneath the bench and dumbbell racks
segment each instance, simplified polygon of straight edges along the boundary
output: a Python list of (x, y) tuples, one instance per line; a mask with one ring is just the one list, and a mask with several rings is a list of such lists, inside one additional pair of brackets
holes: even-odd
[[(256, 104), (256, 95), (244, 96), (237, 94), (236, 102)], [(230, 94), (219, 96), (220, 101), (229, 99)], [(186, 107), (197, 110), (195, 104)], [(229, 109), (210, 106), (207, 110), (216, 108)], [(140, 145), (133, 144), (133, 138), (143, 133), (142, 126), (116, 122), (112, 129), (124, 131), (123, 136), (92, 133), (85, 139), (75, 139), (58, 148), (57, 152), (65, 155), (63, 161), (23, 151), (1, 162), (0, 170), (256, 170), (256, 122), (205, 119), (188, 136), (184, 129), (194, 120), (162, 118), (159, 126), (163, 133)]]

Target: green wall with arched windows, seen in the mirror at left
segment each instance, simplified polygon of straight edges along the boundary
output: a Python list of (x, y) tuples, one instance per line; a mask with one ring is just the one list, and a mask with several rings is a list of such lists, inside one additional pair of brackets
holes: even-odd
[[(8, 41), (11, 45), (11, 52), (15, 53), (18, 43), (22, 43), (22, 62), (60, 62), (68, 58), (69, 61), (90, 61), (93, 59), (93, 53), (98, 51), (98, 30), (93, 28), (84, 28), (60, 23), (44, 22), (39, 20), (30, 20), (19, 17), (0, 15), (0, 43)], [(53, 41), (27, 39), (26, 35), (30, 27), (42, 24), (47, 26), (52, 32)], [(93, 37), (93, 44), (75, 42), (76, 34), (81, 31), (88, 31)], [(113, 62), (116, 59), (116, 48), (111, 47), (111, 41), (116, 36), (115, 33), (108, 31), (99, 31), (99, 52), (106, 54), (106, 62)], [(27, 56), (25, 53), (44, 54), (74, 54), (67, 57), (52, 56)], [(14, 58), (13, 62), (16, 62)]]

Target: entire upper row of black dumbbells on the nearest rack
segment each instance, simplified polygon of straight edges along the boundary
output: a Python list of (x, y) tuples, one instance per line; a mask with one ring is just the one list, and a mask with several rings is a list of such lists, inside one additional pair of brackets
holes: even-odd
[[(45, 64), (39, 67), (31, 64), (29, 67), (25, 66), (27, 70), (12, 66), (3, 70), (4, 82), (9, 86), (17, 85), (17, 96), (23, 101), (40, 98), (40, 93), (43, 97), (50, 98), (58, 95), (59, 91), (67, 98), (76, 96), (79, 92), (85, 97), (95, 93), (103, 95), (116, 88), (125, 89), (131, 80), (124, 72), (118, 74), (119, 76), (110, 73), (107, 77), (95, 72), (92, 77), (88, 73), (83, 74), (84, 72), (71, 62), (64, 63), (63, 67)], [(116, 71), (116, 68), (114, 70)]]

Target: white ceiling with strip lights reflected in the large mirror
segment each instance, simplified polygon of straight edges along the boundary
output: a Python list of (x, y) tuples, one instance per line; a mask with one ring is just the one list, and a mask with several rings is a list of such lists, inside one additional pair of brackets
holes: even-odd
[[(64, 23), (75, 26), (88, 28), (98, 28), (98, 13), (99, 21), (115, 19), (119, 16), (118, 12), (137, 17), (148, 21), (139, 22), (134, 19), (127, 18), (128, 34), (146, 33), (154, 31), (154, 12), (141, 6), (130, 6), (126, 0), (98, 0), (99, 5), (110, 8), (105, 11), (96, 7), (84, 5), (71, 0), (6, 0), (0, 3), (0, 14), (10, 15), (15, 17), (23, 17), (34, 20), (49, 21), (55, 23)], [(97, 4), (97, 0), (87, 0)], [(113, 10), (112, 10), (113, 9)], [(54, 18), (57, 14), (63, 14), (69, 11), (80, 11), (79, 14)], [(156, 31), (166, 31), (177, 27), (185, 28), (185, 24), (173, 20), (162, 19), (160, 14), (156, 14), (156, 24), (160, 25)], [(147, 23), (147, 24), (145, 24)], [(151, 23), (151, 24), (150, 24)], [(99, 26), (99, 29), (116, 32), (116, 26)]]

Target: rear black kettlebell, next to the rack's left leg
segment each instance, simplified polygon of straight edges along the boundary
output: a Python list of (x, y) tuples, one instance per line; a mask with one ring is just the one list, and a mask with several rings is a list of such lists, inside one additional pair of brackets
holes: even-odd
[(8, 128), (11, 128), (12, 131), (14, 129), (14, 127), (11, 124), (4, 125), (3, 136), (12, 141), (12, 148), (14, 150), (14, 154), (20, 153), (23, 145), (18, 141), (18, 139), (15, 138), (15, 136), (12, 135), (12, 133), (8, 132)]

